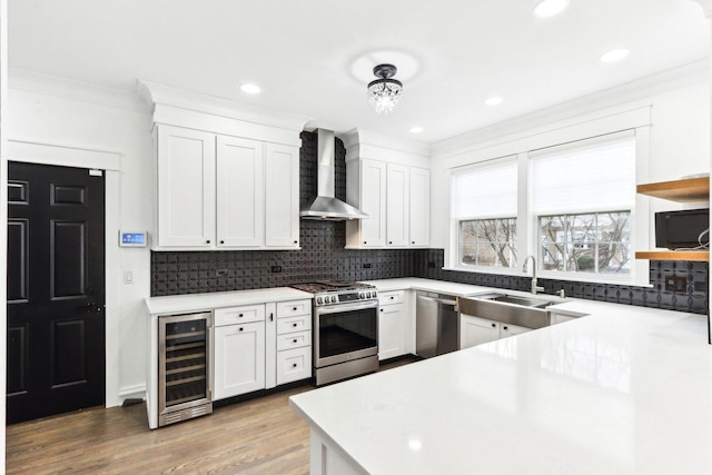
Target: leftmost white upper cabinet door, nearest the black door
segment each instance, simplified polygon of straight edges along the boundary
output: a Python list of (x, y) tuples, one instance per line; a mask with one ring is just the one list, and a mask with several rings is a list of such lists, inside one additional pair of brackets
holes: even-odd
[(159, 126), (158, 246), (215, 244), (215, 135)]

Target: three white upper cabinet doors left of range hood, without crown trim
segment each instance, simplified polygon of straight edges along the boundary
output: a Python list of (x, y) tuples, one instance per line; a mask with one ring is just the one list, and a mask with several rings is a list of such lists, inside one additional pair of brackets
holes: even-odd
[(296, 249), (298, 148), (158, 125), (156, 249)]

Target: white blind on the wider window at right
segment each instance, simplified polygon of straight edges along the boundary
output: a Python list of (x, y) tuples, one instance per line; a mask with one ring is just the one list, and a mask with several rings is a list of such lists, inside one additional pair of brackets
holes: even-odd
[(530, 158), (535, 215), (635, 207), (633, 131), (538, 150)]

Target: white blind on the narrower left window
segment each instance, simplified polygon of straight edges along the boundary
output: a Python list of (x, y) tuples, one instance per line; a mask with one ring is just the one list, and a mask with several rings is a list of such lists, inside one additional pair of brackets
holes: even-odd
[(453, 174), (453, 217), (514, 217), (516, 191), (515, 159), (457, 170)]

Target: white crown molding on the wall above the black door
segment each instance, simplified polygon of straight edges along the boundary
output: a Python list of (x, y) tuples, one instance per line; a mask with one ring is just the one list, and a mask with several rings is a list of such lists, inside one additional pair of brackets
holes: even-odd
[(9, 89), (55, 96), (137, 112), (148, 112), (146, 103), (134, 91), (107, 88), (24, 69), (10, 68)]

